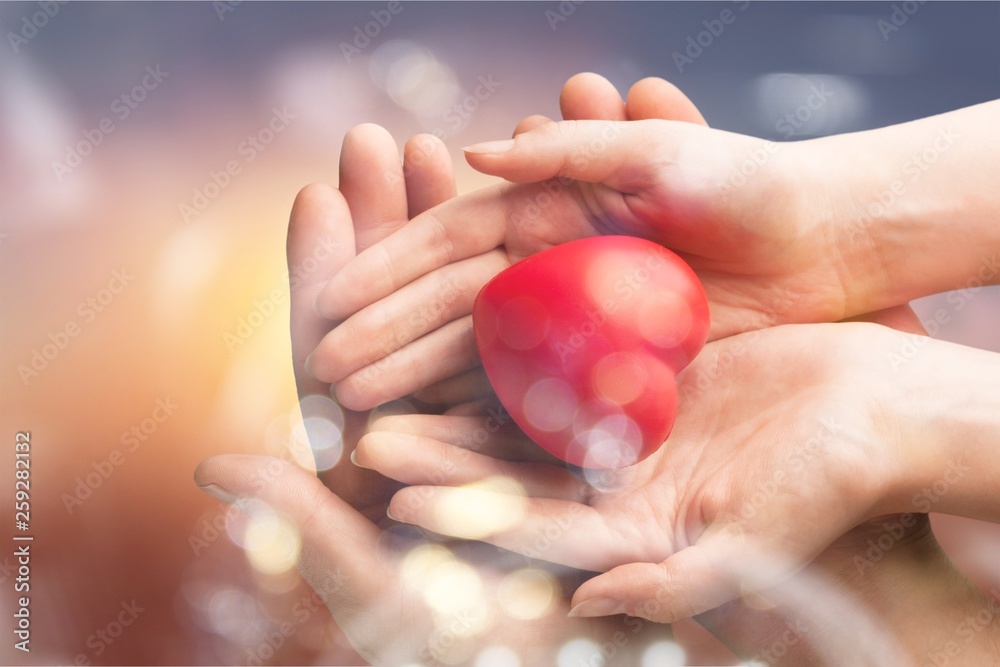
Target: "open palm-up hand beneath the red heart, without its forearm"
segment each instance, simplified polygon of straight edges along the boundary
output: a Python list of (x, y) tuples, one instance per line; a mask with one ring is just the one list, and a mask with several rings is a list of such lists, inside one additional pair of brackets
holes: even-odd
[[(901, 310), (880, 318), (912, 317)], [(910, 320), (911, 330), (918, 325)], [(574, 595), (576, 613), (645, 616), (658, 586), (668, 601), (654, 620), (712, 609), (749, 587), (773, 585), (831, 542), (885, 513), (911, 458), (884, 404), (894, 396), (887, 354), (903, 334), (871, 323), (783, 326), (715, 341), (678, 376), (680, 406), (668, 442), (618, 471), (498, 461), (449, 438), (447, 417), (379, 421), (357, 461), (400, 482), (397, 520), (459, 537), (488, 491), (448, 488), (493, 477), (518, 480), (522, 519), (489, 542), (517, 553), (606, 572)], [(887, 379), (888, 376), (888, 379)], [(433, 434), (432, 434), (433, 433)], [(430, 486), (425, 486), (430, 485)], [(905, 511), (905, 510), (904, 510)], [(561, 537), (539, 546), (553, 526)], [(732, 559), (760, 574), (730, 575)]]

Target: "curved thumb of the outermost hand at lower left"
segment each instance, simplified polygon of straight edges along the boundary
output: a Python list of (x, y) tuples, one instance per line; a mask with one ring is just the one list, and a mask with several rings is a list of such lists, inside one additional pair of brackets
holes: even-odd
[(331, 609), (339, 601), (362, 611), (386, 594), (390, 578), (375, 555), (379, 531), (305, 470), (271, 457), (228, 454), (203, 461), (194, 477), (224, 502), (245, 506), (257, 499), (289, 520), (302, 543), (303, 577), (317, 590), (326, 588), (327, 575), (342, 582), (327, 591)]

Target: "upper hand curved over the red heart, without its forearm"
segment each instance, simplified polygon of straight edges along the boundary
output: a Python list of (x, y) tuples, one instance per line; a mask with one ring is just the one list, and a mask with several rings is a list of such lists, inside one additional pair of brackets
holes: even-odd
[[(450, 200), (361, 253), (317, 298), (325, 316), (348, 319), (312, 354), (311, 372), (360, 409), (467, 371), (478, 363), (479, 289), (527, 255), (594, 234), (680, 252), (712, 303), (711, 339), (851, 314), (840, 250), (810, 218), (815, 198), (798, 195), (800, 149), (710, 130), (675, 98), (694, 122), (648, 119), (648, 104), (635, 112), (645, 120), (621, 122), (631, 107), (620, 105), (618, 122), (533, 120), (510, 152), (470, 153), (481, 170), (543, 182)], [(757, 154), (766, 160), (743, 183), (740, 165)]]

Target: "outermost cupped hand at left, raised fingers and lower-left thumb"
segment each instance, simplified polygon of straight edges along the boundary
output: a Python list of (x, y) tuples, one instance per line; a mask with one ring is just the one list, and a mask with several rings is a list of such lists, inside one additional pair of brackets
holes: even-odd
[[(429, 136), (411, 140), (401, 166), (389, 135), (370, 125), (348, 134), (341, 173), (340, 190), (325, 185), (303, 189), (289, 224), (290, 267), (303, 265), (309, 257), (319, 259), (315, 250), (324, 241), (335, 248), (323, 256), (318, 269), (292, 286), (293, 365), (300, 399), (330, 395), (329, 383), (315, 380), (304, 369), (306, 354), (330, 326), (312, 309), (316, 290), (357, 250), (391, 233), (407, 216), (454, 194), (450, 158), (439, 140)], [(373, 173), (384, 178), (373, 179)], [(324, 597), (364, 659), (385, 665), (418, 660), (454, 664), (466, 660), (466, 653), (474, 657), (482, 648), (505, 645), (518, 653), (522, 664), (547, 665), (554, 664), (558, 650), (571, 639), (588, 638), (600, 645), (612, 642), (616, 633), (628, 632), (630, 641), (619, 656), (638, 662), (647, 644), (671, 637), (670, 628), (638, 619), (567, 621), (570, 594), (587, 573), (523, 558), (497, 558), (495, 549), (481, 544), (428, 540), (412, 531), (398, 535), (399, 526), (386, 517), (386, 506), (399, 485), (346, 460), (373, 413), (335, 409), (332, 403), (315, 400), (304, 406), (304, 417), (342, 414), (344, 451), (339, 465), (314, 477), (267, 457), (221, 456), (203, 462), (195, 479), (225, 502), (252, 508), (247, 504), (250, 499), (261, 500), (291, 521), (302, 540), (299, 571)], [(310, 438), (321, 444), (316, 433)], [(554, 586), (550, 607), (540, 619), (519, 619), (494, 610), (494, 622), (488, 627), (453, 626), (480, 608), (481, 601), (442, 612), (404, 576), (406, 554), (430, 543), (452, 554), (443, 579), (465, 577), (459, 585), (469, 588), (473, 573), (487, 602), (496, 600), (498, 587), (511, 573), (526, 567), (544, 572)], [(449, 635), (453, 627), (457, 630)], [(398, 632), (387, 636), (386, 628)]]

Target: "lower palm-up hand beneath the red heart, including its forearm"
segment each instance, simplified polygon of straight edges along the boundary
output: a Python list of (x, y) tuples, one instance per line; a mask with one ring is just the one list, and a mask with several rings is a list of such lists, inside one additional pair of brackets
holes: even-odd
[[(974, 219), (977, 206), (970, 208)], [(886, 317), (898, 319), (899, 314), (884, 313), (875, 319), (884, 321)], [(914, 323), (910, 330), (916, 326)], [(761, 565), (778, 562), (769, 568), (768, 576), (780, 579), (846, 528), (886, 511), (912, 512), (923, 507), (924, 501), (915, 495), (919, 485), (939, 481), (942, 474), (954, 476), (951, 464), (964, 460), (970, 441), (985, 445), (972, 448), (984, 466), (975, 470), (983, 474), (973, 472), (935, 509), (954, 508), (967, 516), (996, 520), (996, 507), (982, 500), (997, 490), (988, 446), (996, 424), (987, 414), (996, 414), (1000, 397), (983, 381), (992, 375), (982, 372), (984, 365), (987, 369), (996, 367), (996, 355), (935, 342), (927, 346), (926, 355), (933, 355), (933, 361), (915, 364), (919, 371), (909, 374), (909, 384), (899, 382), (898, 377), (887, 382), (886, 360), (894, 364), (893, 358), (898, 358), (906, 345), (912, 345), (911, 338), (872, 325), (781, 327), (760, 336), (744, 334), (719, 341), (712, 346), (709, 361), (703, 355), (698, 364), (709, 367), (696, 366), (686, 376), (690, 393), (699, 395), (694, 408), (681, 407), (682, 414), (690, 410), (686, 424), (695, 425), (693, 433), (685, 432), (679, 422), (669, 454), (630, 469), (624, 481), (607, 484), (615, 488), (604, 494), (595, 494), (590, 485), (577, 482), (561, 468), (510, 464), (475, 452), (448, 451), (454, 450), (453, 445), (470, 442), (469, 434), (463, 435), (458, 427), (450, 433), (452, 442), (434, 440), (419, 418), (401, 417), (377, 426), (377, 430), (384, 428), (389, 433), (368, 436), (358, 460), (410, 484), (422, 483), (427, 470), (439, 477), (446, 470), (445, 484), (466, 484), (497, 475), (525, 482), (532, 498), (525, 520), (513, 531), (490, 536), (490, 541), (530, 553), (532, 539), (541, 527), (557, 516), (577, 515), (579, 528), (547, 552), (546, 558), (595, 570), (667, 558), (659, 565), (618, 567), (588, 582), (574, 598), (579, 603), (574, 612), (642, 615), (639, 602), (649, 598), (650, 589), (660, 587), (669, 590), (672, 599), (653, 617), (669, 622), (714, 608), (745, 590), (747, 581), (727, 573), (723, 564), (745, 557), (748, 548), (751, 553), (756, 551)], [(926, 343), (918, 345), (923, 348)], [(822, 359), (813, 356), (817, 348), (826, 350)], [(746, 358), (740, 359), (744, 354)], [(738, 359), (736, 366), (725, 371), (729, 384), (712, 387), (713, 397), (723, 400), (716, 405), (711, 398), (701, 396), (703, 385), (698, 384), (695, 390), (691, 374), (698, 379), (715, 377), (712, 365), (733, 357)], [(794, 369), (791, 373), (783, 366), (789, 362)], [(914, 392), (931, 397), (932, 388), (940, 386), (943, 375), (935, 369), (941, 368), (953, 370), (948, 376), (961, 399), (949, 401), (947, 406), (936, 397), (914, 401)], [(858, 373), (859, 369), (871, 372)], [(761, 392), (761, 385), (773, 391)], [(801, 392), (803, 386), (815, 385), (818, 389)], [(972, 407), (963, 409), (968, 404)], [(816, 431), (816, 424), (801, 419), (801, 415), (817, 413), (842, 414), (846, 421), (838, 424), (834, 419), (832, 427), (824, 427), (820, 421)], [(794, 415), (795, 419), (782, 419), (783, 415)], [(920, 415), (930, 417), (914, 419)], [(795, 431), (807, 424), (816, 431), (812, 435), (820, 435), (816, 454), (808, 444), (810, 433)], [(902, 428), (904, 424), (915, 427), (907, 430)], [(955, 437), (956, 425), (962, 428), (960, 437)], [(441, 432), (444, 426), (438, 421), (430, 430)], [(703, 446), (706, 442), (712, 443), (711, 448)], [(915, 448), (915, 442), (924, 446)], [(817, 459), (808, 461), (814, 455)], [(780, 465), (768, 469), (767, 464), (776, 461)], [(808, 474), (800, 475), (796, 470), (788, 483), (791, 471), (782, 466), (800, 465), (808, 466)], [(949, 466), (951, 472), (947, 472)], [(959, 470), (967, 475), (968, 468)], [(748, 469), (755, 472), (751, 479), (744, 472)], [(906, 474), (900, 474), (901, 470)], [(775, 502), (760, 508), (755, 500), (759, 496), (754, 494), (760, 492), (768, 476), (785, 488)], [(678, 479), (683, 481), (678, 483)], [(830, 487), (829, 495), (817, 491), (824, 487)], [(414, 510), (410, 498), (417, 493), (422, 502)], [(463, 497), (464, 493), (461, 489), (406, 489), (397, 495), (390, 511), (400, 520), (447, 533), (435, 502), (426, 501), (431, 498), (455, 506), (474, 502)], [(813, 500), (817, 495), (821, 498), (818, 504)], [(829, 499), (825, 504), (824, 498)], [(655, 511), (637, 510), (636, 506)], [(808, 514), (803, 513), (803, 507)], [(791, 516), (795, 517), (792, 521)], [(643, 525), (643, 521), (650, 525)], [(664, 525), (673, 529), (659, 531)], [(755, 585), (767, 581), (765, 578)]]

